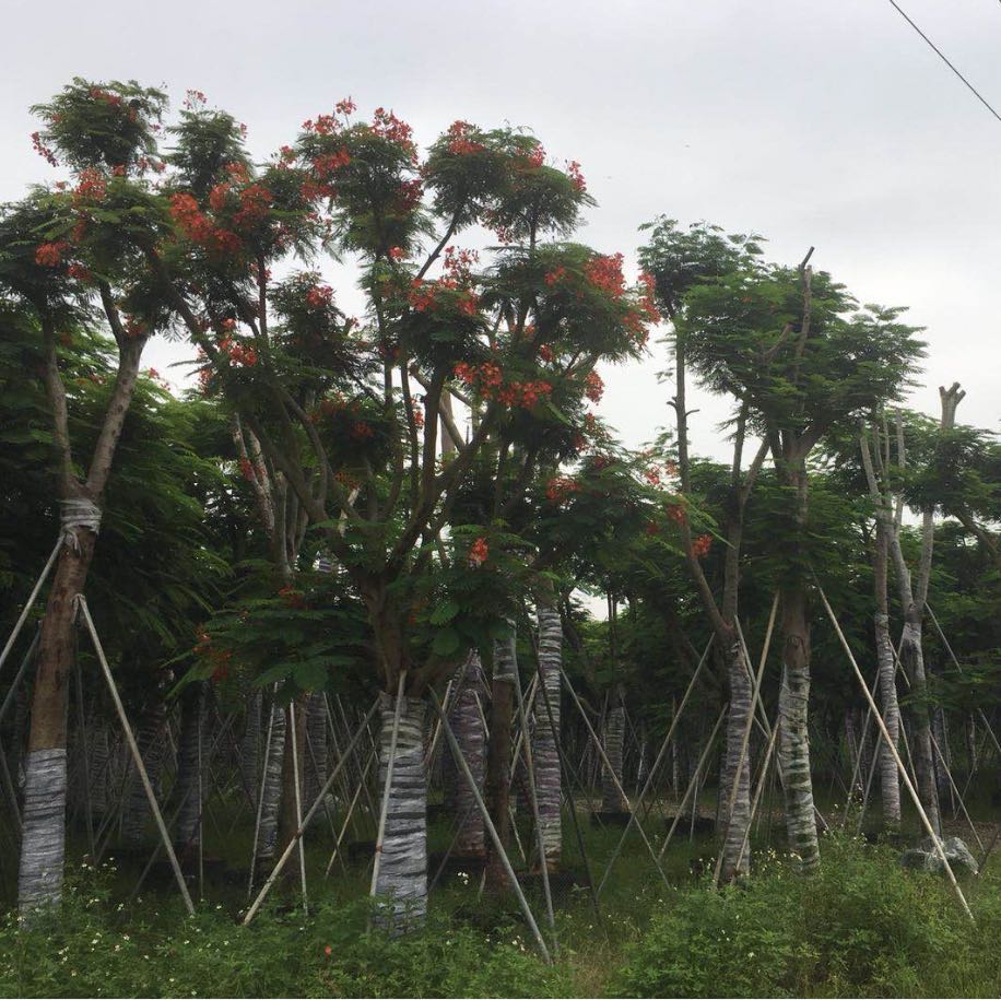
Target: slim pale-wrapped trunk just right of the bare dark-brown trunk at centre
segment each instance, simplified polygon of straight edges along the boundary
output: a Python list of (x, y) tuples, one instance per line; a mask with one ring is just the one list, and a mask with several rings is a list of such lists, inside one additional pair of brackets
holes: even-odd
[(560, 864), (563, 848), (563, 785), (560, 767), (560, 701), (563, 660), (563, 626), (560, 612), (540, 604), (539, 615), (539, 687), (535, 692), (535, 727), (532, 732), (532, 764), (535, 768), (535, 797), (539, 800), (539, 825), (550, 870)]

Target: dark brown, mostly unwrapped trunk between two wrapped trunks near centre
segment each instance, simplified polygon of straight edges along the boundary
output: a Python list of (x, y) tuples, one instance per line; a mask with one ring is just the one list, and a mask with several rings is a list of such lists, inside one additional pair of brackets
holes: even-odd
[[(515, 684), (518, 659), (511, 634), (494, 644), (494, 675), (491, 681), (490, 745), (486, 756), (486, 802), (490, 817), (505, 851), (511, 843), (511, 723), (515, 715)], [(501, 892), (507, 887), (507, 873), (493, 842), (487, 845), (486, 887)]]

